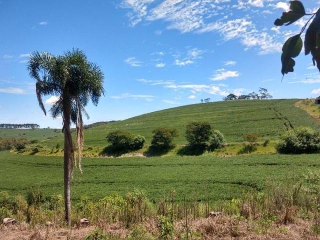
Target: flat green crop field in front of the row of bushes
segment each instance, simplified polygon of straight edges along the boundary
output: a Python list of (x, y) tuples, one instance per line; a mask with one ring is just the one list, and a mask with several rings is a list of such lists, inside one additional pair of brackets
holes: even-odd
[[(319, 170), (320, 154), (308, 155), (239, 155), (165, 156), (130, 158), (84, 158), (83, 173), (77, 170), (72, 179), (72, 199), (87, 195), (93, 200), (133, 189), (143, 190), (158, 201), (172, 189), (177, 199), (198, 192), (210, 201), (239, 197), (250, 187), (263, 189), (267, 179), (283, 182), (301, 177), (308, 170)], [(40, 186), (44, 196), (62, 193), (62, 157), (17, 155), (0, 152), (0, 191), (25, 194), (29, 187)]]

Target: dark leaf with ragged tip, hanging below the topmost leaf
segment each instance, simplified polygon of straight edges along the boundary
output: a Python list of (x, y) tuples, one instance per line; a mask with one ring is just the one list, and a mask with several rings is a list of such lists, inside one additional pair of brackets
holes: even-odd
[(300, 35), (301, 34), (297, 34), (290, 37), (283, 44), (281, 55), (282, 75), (288, 72), (293, 72), (293, 66), (295, 65), (295, 61), (292, 59), (292, 57), (298, 56), (302, 50), (302, 39)]

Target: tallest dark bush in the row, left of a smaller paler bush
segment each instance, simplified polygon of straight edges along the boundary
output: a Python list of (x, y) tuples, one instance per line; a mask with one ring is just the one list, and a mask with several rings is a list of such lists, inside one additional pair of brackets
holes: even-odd
[(190, 122), (186, 125), (185, 137), (191, 146), (205, 145), (211, 136), (211, 126), (207, 122)]

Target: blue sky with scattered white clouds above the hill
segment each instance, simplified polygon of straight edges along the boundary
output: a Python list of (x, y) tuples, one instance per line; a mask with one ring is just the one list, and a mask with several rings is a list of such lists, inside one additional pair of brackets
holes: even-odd
[[(314, 12), (318, 0), (302, 0)], [(320, 95), (320, 74), (300, 54), (281, 82), (286, 38), (307, 18), (275, 27), (283, 0), (0, 0), (0, 122), (61, 127), (37, 105), (28, 54), (77, 47), (101, 66), (107, 94), (85, 123), (217, 101), (265, 87), (275, 98)], [(313, 93), (312, 93), (313, 92)], [(54, 96), (44, 98), (46, 108)]]

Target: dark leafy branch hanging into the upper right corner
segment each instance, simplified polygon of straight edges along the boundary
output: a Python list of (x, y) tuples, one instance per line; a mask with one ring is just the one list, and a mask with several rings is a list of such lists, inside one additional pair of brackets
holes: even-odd
[(282, 46), (281, 73), (283, 76), (288, 72), (294, 71), (293, 67), (295, 61), (293, 58), (298, 56), (302, 50), (303, 43), (301, 34), (311, 20), (312, 22), (309, 24), (304, 37), (304, 53), (305, 55), (308, 55), (311, 52), (313, 65), (316, 63), (316, 66), (320, 71), (320, 8), (317, 12), (305, 13), (302, 2), (298, 0), (290, 1), (289, 11), (283, 12), (281, 17), (274, 21), (274, 25), (287, 26), (306, 15), (310, 15), (311, 17), (301, 28), (300, 33), (289, 37)]

